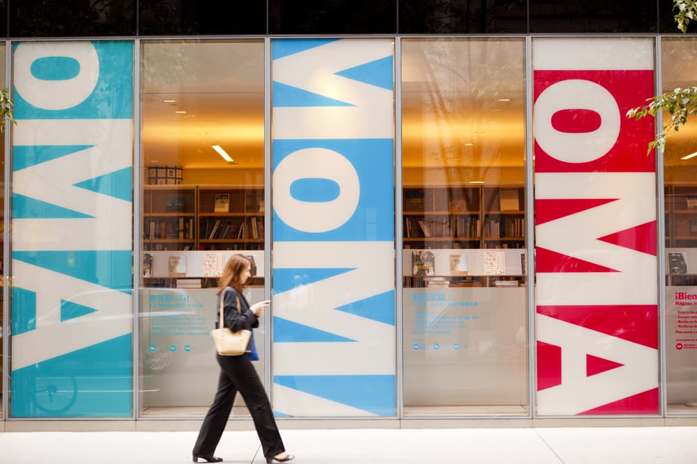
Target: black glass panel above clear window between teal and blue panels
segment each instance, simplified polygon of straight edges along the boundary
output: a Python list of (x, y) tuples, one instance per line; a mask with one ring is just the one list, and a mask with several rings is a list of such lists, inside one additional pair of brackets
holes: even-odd
[(140, 35), (265, 34), (266, 2), (261, 0), (140, 1)]

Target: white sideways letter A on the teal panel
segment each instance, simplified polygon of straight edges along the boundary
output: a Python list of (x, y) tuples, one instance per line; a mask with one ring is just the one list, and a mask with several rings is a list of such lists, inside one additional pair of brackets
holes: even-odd
[[(16, 259), (13, 273), (13, 285), (36, 292), (36, 330), (13, 335), (13, 370), (132, 332), (129, 294)], [(98, 311), (61, 322), (61, 300)]]

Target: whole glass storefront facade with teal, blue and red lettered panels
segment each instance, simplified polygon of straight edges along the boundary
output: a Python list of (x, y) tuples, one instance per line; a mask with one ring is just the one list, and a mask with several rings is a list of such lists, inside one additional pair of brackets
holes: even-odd
[(626, 116), (697, 81), (670, 2), (44, 3), (1, 9), (4, 430), (196, 423), (233, 253), (284, 421), (697, 419), (697, 139)]

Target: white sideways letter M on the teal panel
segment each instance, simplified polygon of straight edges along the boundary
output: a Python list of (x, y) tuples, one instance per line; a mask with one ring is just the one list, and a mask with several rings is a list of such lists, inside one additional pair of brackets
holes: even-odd
[(24, 120), (14, 131), (15, 145), (94, 145), (13, 173), (13, 193), (94, 217), (16, 218), (15, 250), (130, 250), (132, 203), (74, 184), (131, 166), (132, 120)]

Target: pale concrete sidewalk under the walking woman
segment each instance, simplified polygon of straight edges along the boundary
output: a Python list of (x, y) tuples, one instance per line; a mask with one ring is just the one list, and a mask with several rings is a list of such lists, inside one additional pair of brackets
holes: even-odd
[[(282, 430), (293, 464), (695, 464), (697, 427)], [(0, 463), (187, 463), (195, 432), (0, 433)], [(216, 456), (251, 463), (252, 431), (224, 433)], [(254, 463), (265, 463), (261, 452)]]

